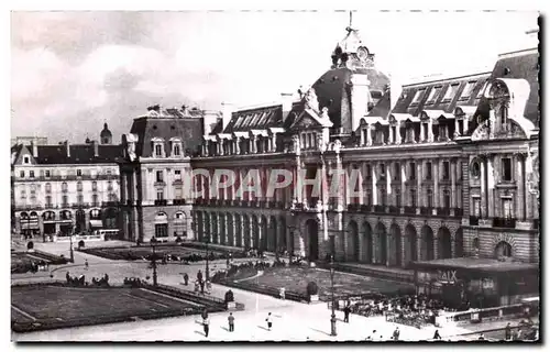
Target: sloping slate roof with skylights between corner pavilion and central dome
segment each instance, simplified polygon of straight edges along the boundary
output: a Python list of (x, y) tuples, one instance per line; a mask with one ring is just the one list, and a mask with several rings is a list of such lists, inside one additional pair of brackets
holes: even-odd
[(266, 130), (279, 127), (283, 127), (283, 106), (270, 105), (233, 112), (231, 121), (229, 121), (223, 133)]

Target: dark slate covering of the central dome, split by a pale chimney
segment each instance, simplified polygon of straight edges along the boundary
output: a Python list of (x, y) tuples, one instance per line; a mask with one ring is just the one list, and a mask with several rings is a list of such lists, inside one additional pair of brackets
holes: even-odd
[[(364, 73), (371, 81), (371, 90), (385, 91), (389, 84), (389, 78), (386, 75), (375, 68), (365, 68)], [(334, 124), (333, 128), (351, 130), (351, 119), (346, 116), (350, 109), (344, 107), (342, 113), (342, 99), (344, 103), (351, 101), (348, 87), (352, 74), (353, 72), (345, 67), (329, 69), (312, 86), (319, 100), (319, 107), (329, 108), (329, 118)]]

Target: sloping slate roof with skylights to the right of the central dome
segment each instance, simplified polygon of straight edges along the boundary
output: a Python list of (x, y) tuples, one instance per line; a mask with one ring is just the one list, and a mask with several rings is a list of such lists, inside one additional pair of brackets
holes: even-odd
[[(476, 106), (480, 101), (480, 99), (477, 98), (477, 92), (483, 88), (488, 76), (490, 73), (482, 73), (476, 75), (446, 78), (404, 86), (402, 95), (397, 99), (397, 102), (392, 112), (409, 113), (414, 117), (417, 117), (422, 110), (443, 110), (444, 112), (452, 113), (458, 106)], [(475, 81), (475, 86), (470, 91), (470, 95), (468, 95), (466, 97), (462, 97), (462, 92), (471, 81)], [(451, 89), (451, 86), (454, 85), (459, 85), (459, 89), (454, 97), (452, 97), (450, 100), (443, 100), (447, 90)], [(438, 87), (441, 88), (440, 92), (435, 97), (433, 101), (428, 102), (430, 91), (432, 89), (437, 89)], [(425, 92), (421, 99), (417, 102), (413, 102), (417, 91), (422, 89)]]

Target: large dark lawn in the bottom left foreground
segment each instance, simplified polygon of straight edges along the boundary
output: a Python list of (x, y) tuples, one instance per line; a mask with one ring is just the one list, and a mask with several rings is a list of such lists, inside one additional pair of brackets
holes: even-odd
[(23, 330), (189, 315), (204, 306), (148, 288), (12, 286), (11, 320)]

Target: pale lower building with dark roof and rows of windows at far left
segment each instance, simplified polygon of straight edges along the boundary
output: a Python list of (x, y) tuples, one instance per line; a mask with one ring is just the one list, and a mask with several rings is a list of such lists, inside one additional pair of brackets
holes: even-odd
[[(110, 134), (105, 125), (102, 134)], [(11, 148), (15, 233), (57, 235), (119, 228), (121, 145), (68, 142)]]

